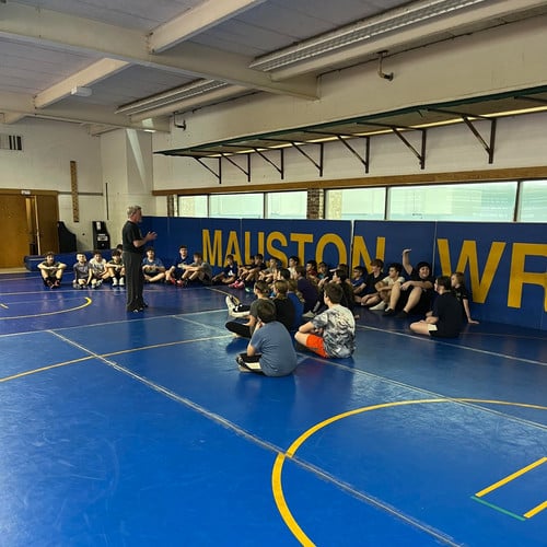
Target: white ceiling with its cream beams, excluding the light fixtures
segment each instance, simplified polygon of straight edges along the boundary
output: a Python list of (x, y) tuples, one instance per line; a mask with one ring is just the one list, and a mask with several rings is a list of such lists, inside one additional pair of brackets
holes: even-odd
[[(445, 2), (0, 0), (0, 121), (33, 116), (90, 124), (97, 131), (166, 130), (174, 112), (249, 92), (313, 98), (319, 74), (376, 58), (374, 38), (345, 47), (336, 60), (324, 54), (270, 71), (249, 63), (391, 10), (406, 13)], [(547, 12), (547, 2), (539, 0), (467, 2), (474, 5), (410, 25), (414, 32), (404, 39), (392, 31), (389, 54)], [(152, 100), (203, 81), (218, 89), (175, 95), (167, 106)], [(74, 96), (77, 86), (92, 94)], [(147, 107), (118, 112), (148, 98)]]

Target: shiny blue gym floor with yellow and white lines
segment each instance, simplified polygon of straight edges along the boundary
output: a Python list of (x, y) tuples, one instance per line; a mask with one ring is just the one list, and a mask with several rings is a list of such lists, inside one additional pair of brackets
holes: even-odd
[(222, 288), (70, 281), (0, 276), (0, 545), (547, 546), (547, 333), (363, 310), (269, 379)]

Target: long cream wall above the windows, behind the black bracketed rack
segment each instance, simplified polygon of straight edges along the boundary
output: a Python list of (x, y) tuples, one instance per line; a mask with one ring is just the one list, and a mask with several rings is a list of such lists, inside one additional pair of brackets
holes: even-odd
[[(395, 55), (384, 62), (384, 70), (395, 73), (393, 82), (377, 77), (375, 62), (328, 73), (321, 79), (319, 101), (259, 93), (197, 109), (184, 115), (186, 130), (173, 127), (171, 135), (154, 135), (153, 148), (184, 148), (515, 88), (547, 85), (546, 27), (547, 18), (542, 16)], [(492, 165), (463, 124), (430, 129), (426, 172), (544, 165), (546, 116), (536, 114), (499, 120)], [(485, 137), (489, 136), (489, 124), (477, 123), (476, 126)], [(407, 137), (419, 148), (418, 135), (407, 133)], [(359, 142), (353, 141), (353, 146), (359, 148)], [(316, 154), (313, 147), (307, 151), (311, 155)], [(288, 150), (286, 154), (286, 182), (319, 178), (317, 170), (298, 151)], [(269, 155), (277, 161), (276, 153)], [(257, 155), (252, 158), (253, 184), (280, 182), (274, 167)], [(244, 161), (242, 158), (242, 165)], [(218, 168), (216, 161), (209, 162), (212, 168)], [(372, 139), (370, 176), (420, 172), (418, 160), (396, 136)], [(363, 175), (362, 165), (345, 147), (339, 143), (326, 146), (324, 178)], [(243, 173), (223, 162), (219, 190), (245, 182)], [(193, 159), (154, 155), (155, 189), (217, 185), (214, 176)], [(163, 203), (164, 198), (159, 198), (159, 202), (160, 199)]]

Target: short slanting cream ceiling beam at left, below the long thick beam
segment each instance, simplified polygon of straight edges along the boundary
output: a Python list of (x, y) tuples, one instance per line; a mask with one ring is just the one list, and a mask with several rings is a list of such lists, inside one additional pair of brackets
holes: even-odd
[(93, 85), (109, 75), (116, 74), (128, 66), (128, 62), (117, 59), (101, 59), (38, 93), (34, 97), (34, 106), (36, 106), (36, 108), (45, 108), (61, 98), (70, 96), (74, 88)]

